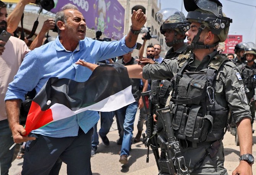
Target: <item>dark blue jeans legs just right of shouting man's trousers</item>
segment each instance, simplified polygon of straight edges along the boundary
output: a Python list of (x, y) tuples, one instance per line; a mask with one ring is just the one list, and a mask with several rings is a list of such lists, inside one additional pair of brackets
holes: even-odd
[[(100, 130), (99, 134), (101, 136), (106, 136), (109, 133), (111, 125), (113, 123), (114, 111), (112, 112), (100, 112)], [(99, 136), (97, 133), (97, 123), (93, 127), (92, 133), (92, 146), (97, 146), (99, 144)]]

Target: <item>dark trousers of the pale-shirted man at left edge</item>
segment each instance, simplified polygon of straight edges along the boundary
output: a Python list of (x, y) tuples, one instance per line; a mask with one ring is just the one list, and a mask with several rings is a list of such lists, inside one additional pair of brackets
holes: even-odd
[(11, 161), (13, 159), (14, 148), (9, 148), (13, 145), (12, 133), (8, 125), (8, 120), (0, 121), (0, 167), (1, 175), (8, 175)]

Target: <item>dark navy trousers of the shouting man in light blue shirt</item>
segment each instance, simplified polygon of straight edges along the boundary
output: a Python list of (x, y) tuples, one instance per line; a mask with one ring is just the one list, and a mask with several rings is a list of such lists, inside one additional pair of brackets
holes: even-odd
[(92, 175), (92, 128), (87, 133), (79, 128), (78, 136), (55, 138), (34, 133), (29, 136), (36, 140), (26, 142), (22, 175), (48, 175), (58, 158), (67, 164), (68, 175)]

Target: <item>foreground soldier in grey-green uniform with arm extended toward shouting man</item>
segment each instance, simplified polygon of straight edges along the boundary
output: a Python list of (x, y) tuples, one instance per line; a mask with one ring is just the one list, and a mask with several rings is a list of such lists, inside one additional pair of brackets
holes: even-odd
[[(214, 50), (227, 38), (232, 19), (222, 13), (218, 0), (184, 0), (184, 5), (191, 22), (187, 43), (193, 53), (161, 64), (142, 65), (141, 60), (126, 66), (130, 78), (172, 79), (166, 108), (158, 110), (159, 117), (166, 119), (165, 136), (157, 136), (165, 146), (165, 158), (161, 155), (158, 161), (159, 174), (227, 175), (222, 139), (231, 112), (240, 141), (240, 164), (232, 174), (251, 175), (252, 117), (245, 87), (237, 66)], [(77, 64), (95, 67), (83, 61)]]

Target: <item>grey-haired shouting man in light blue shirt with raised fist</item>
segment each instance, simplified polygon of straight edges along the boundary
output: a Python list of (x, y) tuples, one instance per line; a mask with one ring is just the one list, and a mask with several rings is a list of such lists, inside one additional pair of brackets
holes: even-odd
[(22, 174), (49, 174), (60, 157), (67, 164), (68, 174), (90, 175), (92, 127), (99, 120), (99, 114), (85, 111), (23, 136), (26, 131), (19, 125), (21, 100), (24, 101), (24, 95), (33, 88), (39, 92), (50, 77), (86, 81), (92, 72), (76, 65), (79, 59), (97, 63), (132, 51), (146, 17), (142, 10), (133, 11), (128, 35), (113, 42), (86, 38), (86, 22), (75, 5), (63, 6), (55, 18), (59, 34), (57, 39), (26, 55), (13, 82), (9, 84), (5, 97), (8, 121), (15, 143), (27, 141)]

